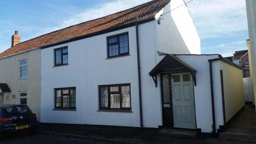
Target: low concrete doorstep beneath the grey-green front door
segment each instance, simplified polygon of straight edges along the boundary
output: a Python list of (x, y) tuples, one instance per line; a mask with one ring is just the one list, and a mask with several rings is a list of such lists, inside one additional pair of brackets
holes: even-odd
[(180, 129), (162, 129), (158, 132), (158, 135), (178, 138), (196, 138), (196, 131), (180, 130)]

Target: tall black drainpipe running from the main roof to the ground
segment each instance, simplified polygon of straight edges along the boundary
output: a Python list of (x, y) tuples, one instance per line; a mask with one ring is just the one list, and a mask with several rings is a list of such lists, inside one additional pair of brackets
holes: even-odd
[(139, 47), (138, 22), (136, 22), (136, 41), (137, 41), (137, 62), (138, 62), (138, 79), (139, 79), (139, 100), (140, 100), (140, 127), (143, 127), (142, 98), (141, 98), (141, 79), (140, 79), (140, 47)]

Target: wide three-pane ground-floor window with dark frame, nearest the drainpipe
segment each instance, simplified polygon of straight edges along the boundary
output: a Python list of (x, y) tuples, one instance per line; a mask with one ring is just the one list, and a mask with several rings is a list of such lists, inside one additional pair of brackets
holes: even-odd
[(130, 84), (99, 86), (100, 109), (131, 109)]

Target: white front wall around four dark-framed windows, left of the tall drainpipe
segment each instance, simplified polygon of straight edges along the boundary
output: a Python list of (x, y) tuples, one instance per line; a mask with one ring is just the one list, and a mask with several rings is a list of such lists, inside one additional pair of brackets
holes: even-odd
[[(150, 23), (148, 23), (150, 24)], [(107, 58), (106, 37), (129, 32), (129, 56)], [(53, 67), (54, 49), (68, 46), (68, 65)], [(135, 26), (41, 50), (41, 122), (140, 126)], [(99, 112), (98, 85), (131, 83), (132, 113)], [(54, 88), (76, 87), (76, 111), (54, 108)]]

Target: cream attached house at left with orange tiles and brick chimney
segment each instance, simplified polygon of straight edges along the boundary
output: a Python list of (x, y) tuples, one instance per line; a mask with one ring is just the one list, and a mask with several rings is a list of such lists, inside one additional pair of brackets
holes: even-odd
[(0, 105), (27, 104), (40, 121), (41, 51), (24, 43), (15, 31), (11, 47), (0, 54)]

